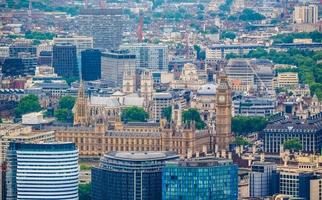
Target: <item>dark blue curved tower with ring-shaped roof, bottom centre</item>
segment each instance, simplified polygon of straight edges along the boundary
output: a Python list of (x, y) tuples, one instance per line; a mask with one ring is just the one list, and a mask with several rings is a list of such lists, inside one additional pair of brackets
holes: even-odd
[(92, 169), (93, 200), (162, 199), (162, 168), (171, 152), (109, 152)]

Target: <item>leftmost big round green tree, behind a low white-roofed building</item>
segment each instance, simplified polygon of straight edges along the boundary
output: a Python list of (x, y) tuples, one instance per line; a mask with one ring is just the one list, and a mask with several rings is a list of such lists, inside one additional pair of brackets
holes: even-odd
[(16, 117), (20, 118), (23, 114), (39, 112), (40, 110), (41, 106), (39, 104), (38, 97), (34, 94), (29, 94), (20, 100), (17, 108), (15, 109), (15, 114)]

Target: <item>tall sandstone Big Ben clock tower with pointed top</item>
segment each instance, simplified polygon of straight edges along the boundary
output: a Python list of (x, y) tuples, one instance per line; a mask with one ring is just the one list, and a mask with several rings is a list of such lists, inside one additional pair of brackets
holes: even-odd
[(217, 76), (216, 92), (216, 135), (215, 144), (218, 150), (227, 150), (232, 141), (231, 134), (231, 88), (227, 75), (221, 71)]

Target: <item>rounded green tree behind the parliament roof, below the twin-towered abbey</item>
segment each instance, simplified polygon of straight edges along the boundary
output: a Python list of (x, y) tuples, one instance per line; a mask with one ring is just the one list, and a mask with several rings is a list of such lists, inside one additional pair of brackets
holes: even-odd
[(146, 122), (149, 114), (140, 107), (132, 106), (122, 110), (121, 119), (126, 122)]

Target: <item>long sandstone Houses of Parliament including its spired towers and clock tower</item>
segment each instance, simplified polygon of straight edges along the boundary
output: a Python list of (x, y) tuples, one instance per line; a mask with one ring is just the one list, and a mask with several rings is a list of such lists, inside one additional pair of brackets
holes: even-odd
[[(149, 84), (148, 78), (144, 81), (145, 85)], [(82, 157), (99, 157), (108, 151), (174, 151), (187, 157), (213, 152), (214, 149), (228, 149), (232, 142), (232, 100), (225, 74), (217, 75), (214, 89), (216, 95), (211, 101), (216, 105), (215, 123), (202, 130), (197, 130), (194, 122), (183, 122), (184, 109), (176, 102), (172, 103), (171, 121), (162, 118), (158, 122), (122, 122), (122, 106), (111, 108), (109, 104), (113, 101), (107, 103), (104, 112), (101, 109), (100, 112), (92, 113), (93, 105), (90, 105), (82, 83), (73, 110), (74, 126), (47, 128), (55, 130), (57, 141), (74, 142)], [(149, 100), (148, 96), (143, 95), (144, 100)]]

